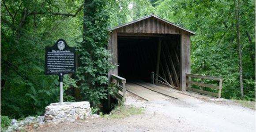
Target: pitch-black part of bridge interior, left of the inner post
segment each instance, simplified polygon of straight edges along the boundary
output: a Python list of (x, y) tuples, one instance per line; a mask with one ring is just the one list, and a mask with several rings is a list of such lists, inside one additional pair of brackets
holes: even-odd
[(156, 69), (158, 37), (118, 37), (118, 75), (150, 81)]

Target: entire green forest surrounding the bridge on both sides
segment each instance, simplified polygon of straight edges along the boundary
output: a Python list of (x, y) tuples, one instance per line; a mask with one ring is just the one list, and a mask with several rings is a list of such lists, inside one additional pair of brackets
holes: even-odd
[(1, 118), (41, 115), (59, 101), (58, 77), (44, 74), (44, 54), (60, 38), (79, 55), (77, 73), (64, 76), (64, 101), (99, 104), (113, 92), (108, 29), (152, 13), (196, 33), (192, 73), (223, 77), (222, 98), (255, 101), (255, 0), (1, 0)]

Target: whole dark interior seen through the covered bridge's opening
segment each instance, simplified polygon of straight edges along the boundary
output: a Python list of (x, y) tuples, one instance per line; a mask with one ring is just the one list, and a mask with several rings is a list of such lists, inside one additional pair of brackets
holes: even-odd
[[(170, 84), (173, 81), (173, 84), (178, 87), (179, 84), (177, 83), (178, 81), (175, 81), (175, 78), (180, 79), (179, 35), (158, 37), (118, 36), (118, 75), (126, 78), (128, 81), (140, 80), (151, 82), (151, 72), (156, 73), (160, 37), (162, 48), (159, 75)], [(171, 61), (173, 62), (177, 76), (171, 67)]]

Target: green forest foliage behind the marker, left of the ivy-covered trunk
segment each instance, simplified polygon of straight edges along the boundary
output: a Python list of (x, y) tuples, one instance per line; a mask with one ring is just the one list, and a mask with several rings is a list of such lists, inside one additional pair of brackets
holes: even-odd
[[(58, 77), (44, 75), (45, 46), (52, 46), (60, 38), (68, 38), (65, 39), (68, 44), (75, 46), (79, 32), (67, 31), (67, 27), (75, 25), (75, 20), (46, 14), (73, 13), (79, 4), (79, 1), (1, 1), (2, 115), (12, 118), (41, 115), (45, 106), (58, 102)], [(58, 10), (60, 5), (62, 8)], [(32, 15), (33, 11), (38, 14)], [(64, 89), (70, 86), (76, 87), (75, 80), (65, 75)]]

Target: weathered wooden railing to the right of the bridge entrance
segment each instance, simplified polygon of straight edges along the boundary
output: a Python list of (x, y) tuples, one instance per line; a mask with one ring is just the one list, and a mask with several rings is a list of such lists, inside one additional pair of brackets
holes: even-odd
[[(200, 78), (201, 82), (191, 81), (191, 77)], [(218, 81), (218, 85), (205, 84), (204, 79)], [(221, 97), (221, 89), (222, 89), (222, 81), (223, 81), (222, 77), (212, 77), (212, 76), (204, 76), (204, 75), (186, 73), (186, 90), (192, 91), (192, 92), (198, 92), (198, 93), (201, 93), (201, 94), (211, 95), (211, 96), (215, 96), (215, 97), (220, 98)], [(198, 85), (198, 86), (200, 86), (200, 89), (191, 88), (191, 85)], [(218, 93), (204, 91), (205, 87), (218, 89)]]

